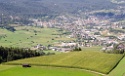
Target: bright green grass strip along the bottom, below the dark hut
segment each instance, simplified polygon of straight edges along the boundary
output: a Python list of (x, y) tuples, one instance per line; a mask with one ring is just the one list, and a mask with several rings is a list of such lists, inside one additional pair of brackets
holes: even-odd
[(100, 76), (100, 75), (78, 69), (36, 67), (36, 66), (33, 66), (31, 68), (22, 68), (21, 66), (3, 65), (0, 66), (0, 76)]

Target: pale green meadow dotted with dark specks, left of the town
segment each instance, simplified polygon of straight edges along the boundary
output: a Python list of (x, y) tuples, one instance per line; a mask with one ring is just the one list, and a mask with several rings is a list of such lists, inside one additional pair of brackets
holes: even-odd
[(55, 28), (38, 28), (30, 26), (14, 26), (16, 31), (10, 32), (0, 29), (0, 46), (29, 48), (42, 45), (54, 45), (59, 41), (71, 41), (67, 38), (66, 31), (59, 31)]

